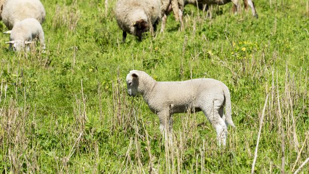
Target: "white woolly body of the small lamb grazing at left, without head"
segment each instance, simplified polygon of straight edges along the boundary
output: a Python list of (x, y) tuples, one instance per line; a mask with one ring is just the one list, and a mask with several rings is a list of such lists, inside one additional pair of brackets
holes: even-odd
[(40, 22), (34, 18), (27, 18), (14, 25), (10, 40), (31, 41), (40, 36), (44, 38), (43, 28)]

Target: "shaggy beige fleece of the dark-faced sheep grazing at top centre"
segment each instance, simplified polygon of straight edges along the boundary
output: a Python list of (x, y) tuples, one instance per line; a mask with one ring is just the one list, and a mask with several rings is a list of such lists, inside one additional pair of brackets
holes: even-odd
[(135, 34), (133, 25), (136, 21), (143, 19), (153, 25), (155, 21), (161, 18), (160, 1), (118, 0), (115, 6), (115, 14), (119, 27), (130, 34)]

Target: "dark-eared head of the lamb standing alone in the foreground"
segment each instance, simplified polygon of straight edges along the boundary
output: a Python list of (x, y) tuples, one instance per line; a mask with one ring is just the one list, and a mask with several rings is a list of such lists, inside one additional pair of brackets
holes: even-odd
[(137, 71), (130, 71), (130, 73), (127, 75), (127, 87), (128, 87), (128, 93), (130, 96), (136, 96), (140, 92), (138, 91), (139, 87), (139, 74)]

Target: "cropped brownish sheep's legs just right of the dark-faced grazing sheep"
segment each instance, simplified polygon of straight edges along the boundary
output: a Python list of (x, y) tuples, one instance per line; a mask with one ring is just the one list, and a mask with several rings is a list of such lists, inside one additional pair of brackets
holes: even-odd
[(184, 30), (183, 24), (183, 8), (184, 8), (184, 0), (161, 0), (161, 15), (162, 15), (162, 23), (160, 32), (164, 31), (167, 15), (169, 12), (173, 11), (175, 20), (180, 22), (180, 30)]

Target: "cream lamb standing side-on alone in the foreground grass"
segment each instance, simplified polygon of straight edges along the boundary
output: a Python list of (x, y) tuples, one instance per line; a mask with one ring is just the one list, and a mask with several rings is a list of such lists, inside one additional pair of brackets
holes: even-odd
[[(234, 127), (229, 88), (215, 79), (156, 82), (143, 71), (132, 70), (126, 78), (130, 96), (142, 94), (150, 110), (158, 115), (160, 131), (171, 129), (171, 115), (203, 111), (217, 132), (219, 146), (226, 145), (227, 126)], [(224, 114), (225, 108), (225, 114)]]

